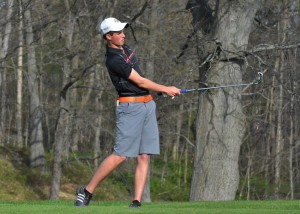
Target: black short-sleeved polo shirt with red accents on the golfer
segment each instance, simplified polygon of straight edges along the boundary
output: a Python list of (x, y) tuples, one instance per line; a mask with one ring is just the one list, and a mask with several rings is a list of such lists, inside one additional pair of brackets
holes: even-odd
[(143, 74), (138, 66), (134, 52), (127, 45), (123, 45), (123, 49), (125, 54), (120, 49), (106, 46), (105, 65), (119, 96), (143, 96), (149, 94), (148, 90), (140, 88), (128, 80), (132, 68), (139, 75), (143, 76)]

